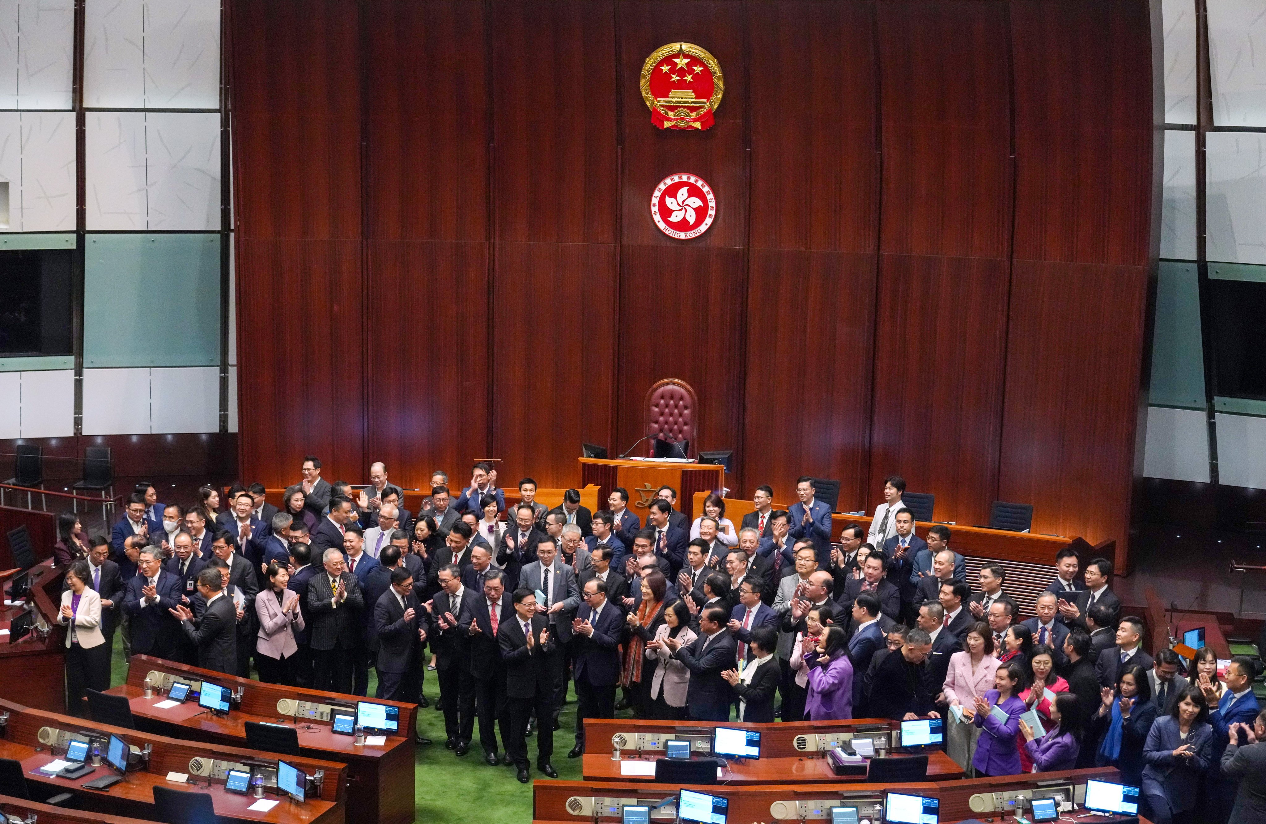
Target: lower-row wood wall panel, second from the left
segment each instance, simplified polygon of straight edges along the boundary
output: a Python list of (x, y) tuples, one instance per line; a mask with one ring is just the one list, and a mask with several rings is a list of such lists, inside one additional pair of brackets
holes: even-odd
[(371, 240), (368, 268), (368, 459), (460, 481), (487, 451), (487, 244)]

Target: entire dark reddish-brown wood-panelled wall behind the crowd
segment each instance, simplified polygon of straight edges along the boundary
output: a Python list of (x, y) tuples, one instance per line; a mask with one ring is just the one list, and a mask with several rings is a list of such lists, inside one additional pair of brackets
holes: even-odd
[[(241, 467), (577, 481), (680, 377), (747, 496), (1127, 538), (1158, 0), (232, 0)], [(725, 73), (656, 129), (647, 54)], [(713, 227), (649, 219), (674, 172)], [(1146, 405), (1143, 405), (1146, 410)], [(1146, 413), (1143, 413), (1146, 414)]]

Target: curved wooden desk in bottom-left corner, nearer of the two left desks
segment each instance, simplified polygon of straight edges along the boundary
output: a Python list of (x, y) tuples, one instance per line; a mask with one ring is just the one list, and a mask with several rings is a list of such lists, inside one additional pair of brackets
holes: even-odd
[[(33, 710), (6, 700), (0, 700), (0, 709), (9, 713), (9, 724), (4, 730), (4, 740), (0, 740), (0, 757), (20, 761), (28, 781), (35, 781), (60, 792), (73, 792), (78, 804), (85, 809), (111, 815), (153, 818), (153, 787), (168, 786), (209, 792), (215, 804), (215, 815), (229, 820), (270, 821), (273, 824), (342, 824), (344, 820), (343, 787), (347, 781), (347, 770), (343, 765), (333, 761), (319, 761), (308, 757), (287, 758), (290, 763), (294, 763), (308, 775), (314, 773), (316, 770), (325, 772), (322, 795), (319, 799), (313, 797), (304, 804), (292, 804), (286, 800), (267, 813), (262, 813), (258, 810), (247, 810), (256, 799), (235, 792), (227, 792), (223, 781), (211, 781), (211, 786), (208, 787), (206, 780), (197, 778), (197, 786), (194, 787), (192, 782), (179, 785), (168, 782), (166, 778), (168, 772), (187, 775), (190, 772), (189, 762), (195, 757), (234, 762), (241, 762), (243, 758), (261, 758), (262, 754), (254, 751), (206, 743), (191, 744), (151, 733), (122, 729), (68, 715), (46, 713), (43, 710)], [(46, 746), (41, 744), (37, 738), (42, 727), (52, 727), (68, 732), (92, 730), (103, 734), (114, 734), (123, 738), (128, 744), (141, 749), (144, 749), (144, 746), (149, 744), (152, 747), (149, 763), (142, 770), (128, 772), (124, 782), (110, 787), (108, 791), (85, 790), (82, 789), (85, 782), (106, 775), (109, 767), (99, 767), (92, 775), (82, 778), (58, 778), (33, 772), (54, 758), (53, 753)]]

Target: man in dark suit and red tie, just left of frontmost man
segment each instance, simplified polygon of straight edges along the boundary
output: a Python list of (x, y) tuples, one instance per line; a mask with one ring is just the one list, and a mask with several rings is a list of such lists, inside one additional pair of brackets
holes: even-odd
[[(477, 552), (482, 553), (484, 549)], [(458, 618), (458, 627), (466, 633), (470, 644), (471, 677), (475, 680), (475, 713), (479, 718), (479, 742), (484, 747), (484, 761), (498, 766), (496, 733), (501, 732), (506, 759), (510, 759), (509, 716), (505, 705), (505, 665), (501, 662), (501, 647), (498, 633), (501, 624), (510, 620), (514, 608), (505, 595), (505, 575), (498, 568), (484, 573), (484, 585), (467, 599)]]

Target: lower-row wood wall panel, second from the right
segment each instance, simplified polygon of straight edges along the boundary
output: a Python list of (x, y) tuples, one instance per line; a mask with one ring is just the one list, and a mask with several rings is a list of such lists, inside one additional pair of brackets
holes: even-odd
[[(937, 496), (937, 520), (984, 524), (998, 487), (1008, 262), (880, 256), (866, 509), (884, 477)], [(1070, 533), (1076, 534), (1076, 533)]]

